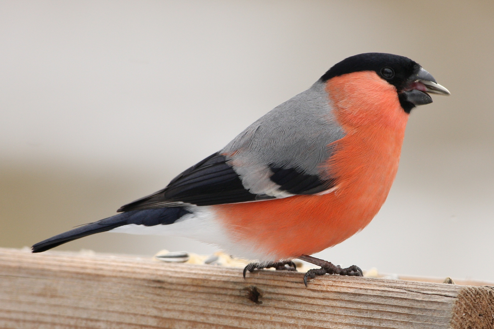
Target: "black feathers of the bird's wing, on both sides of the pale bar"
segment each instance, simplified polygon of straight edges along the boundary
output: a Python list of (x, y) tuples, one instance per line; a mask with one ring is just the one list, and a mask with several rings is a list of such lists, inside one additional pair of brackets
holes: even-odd
[[(332, 186), (332, 181), (306, 175), (295, 169), (270, 166), (271, 180), (291, 194), (318, 193)], [(274, 199), (250, 193), (224, 155), (214, 153), (175, 177), (164, 189), (122, 206), (118, 212), (179, 206), (183, 203), (210, 206)]]

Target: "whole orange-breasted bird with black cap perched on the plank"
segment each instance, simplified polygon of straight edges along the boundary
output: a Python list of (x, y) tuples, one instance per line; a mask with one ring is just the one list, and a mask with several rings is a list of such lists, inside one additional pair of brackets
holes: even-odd
[[(364, 53), (335, 64), (309, 89), (252, 123), (164, 189), (41, 241), (33, 253), (104, 232), (175, 235), (255, 259), (247, 271), (321, 266), (304, 276), (362, 276), (310, 255), (366, 227), (398, 170), (411, 110), (450, 95), (403, 56)], [(296, 237), (296, 238), (295, 238)]]

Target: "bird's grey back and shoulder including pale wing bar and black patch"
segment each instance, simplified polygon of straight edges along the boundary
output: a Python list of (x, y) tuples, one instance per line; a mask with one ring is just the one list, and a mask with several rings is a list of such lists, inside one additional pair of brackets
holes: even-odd
[(313, 194), (333, 186), (320, 165), (329, 144), (344, 137), (323, 82), (289, 99), (250, 125), (220, 153), (250, 193), (274, 197)]

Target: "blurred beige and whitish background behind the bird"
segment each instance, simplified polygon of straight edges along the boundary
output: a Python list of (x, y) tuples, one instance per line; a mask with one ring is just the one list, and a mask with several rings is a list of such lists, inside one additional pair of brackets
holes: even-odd
[[(451, 97), (412, 111), (371, 224), (318, 255), (494, 281), (493, 1), (1, 1), (0, 247), (163, 188), (340, 60), (390, 52)], [(101, 233), (58, 250), (208, 254)]]

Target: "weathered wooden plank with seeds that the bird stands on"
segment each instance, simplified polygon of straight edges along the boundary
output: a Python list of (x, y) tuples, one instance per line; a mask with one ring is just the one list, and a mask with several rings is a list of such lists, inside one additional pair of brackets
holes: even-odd
[(494, 328), (494, 287), (0, 249), (1, 328)]

